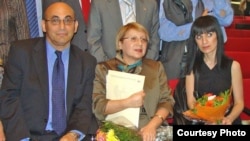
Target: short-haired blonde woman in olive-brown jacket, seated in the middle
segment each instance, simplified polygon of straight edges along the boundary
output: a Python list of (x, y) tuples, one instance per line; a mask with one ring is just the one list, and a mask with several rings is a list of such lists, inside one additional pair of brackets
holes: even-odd
[[(106, 116), (127, 108), (140, 108), (139, 133), (143, 141), (154, 141), (156, 129), (173, 114), (174, 100), (167, 85), (167, 77), (160, 61), (144, 58), (149, 35), (136, 22), (120, 28), (116, 36), (116, 57), (96, 66), (93, 90), (93, 109), (99, 121)], [(108, 70), (145, 76), (143, 90), (128, 98), (106, 98), (106, 75)], [(119, 95), (119, 94), (118, 94)]]

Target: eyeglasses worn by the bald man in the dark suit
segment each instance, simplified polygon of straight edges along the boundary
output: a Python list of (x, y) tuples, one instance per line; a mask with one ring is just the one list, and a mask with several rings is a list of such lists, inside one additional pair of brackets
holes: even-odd
[(71, 16), (66, 16), (64, 19), (60, 19), (57, 16), (52, 17), (49, 19), (43, 19), (45, 22), (50, 22), (52, 25), (60, 25), (63, 21), (64, 25), (72, 25), (76, 22), (76, 19), (73, 19)]

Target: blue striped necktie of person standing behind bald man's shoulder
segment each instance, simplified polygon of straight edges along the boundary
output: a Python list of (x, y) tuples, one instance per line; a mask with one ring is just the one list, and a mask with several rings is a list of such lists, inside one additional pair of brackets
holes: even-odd
[(37, 21), (37, 12), (36, 12), (36, 1), (35, 0), (25, 0), (26, 12), (29, 23), (29, 30), (31, 38), (39, 36), (39, 28)]

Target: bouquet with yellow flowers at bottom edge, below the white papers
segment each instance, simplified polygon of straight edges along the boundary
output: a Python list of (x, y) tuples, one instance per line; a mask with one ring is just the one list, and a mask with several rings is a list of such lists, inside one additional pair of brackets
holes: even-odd
[(141, 136), (136, 130), (104, 121), (96, 134), (97, 141), (141, 141)]

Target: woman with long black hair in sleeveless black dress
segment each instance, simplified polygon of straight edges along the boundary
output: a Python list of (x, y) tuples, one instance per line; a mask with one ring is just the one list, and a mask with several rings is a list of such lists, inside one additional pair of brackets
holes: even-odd
[[(199, 17), (191, 27), (188, 41), (188, 70), (186, 75), (187, 103), (194, 108), (195, 71), (199, 74), (198, 97), (206, 93), (215, 95), (232, 88), (232, 104), (221, 124), (241, 124), (244, 108), (242, 72), (239, 62), (224, 54), (223, 32), (219, 20), (213, 16)], [(215, 124), (215, 123), (214, 123)]]

